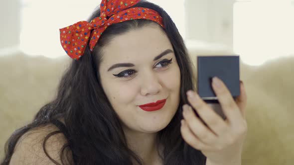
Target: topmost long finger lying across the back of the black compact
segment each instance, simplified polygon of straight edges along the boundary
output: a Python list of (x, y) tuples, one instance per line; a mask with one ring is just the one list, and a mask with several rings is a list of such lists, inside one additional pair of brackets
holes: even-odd
[(212, 87), (229, 122), (237, 124), (243, 117), (227, 86), (220, 79), (214, 77)]

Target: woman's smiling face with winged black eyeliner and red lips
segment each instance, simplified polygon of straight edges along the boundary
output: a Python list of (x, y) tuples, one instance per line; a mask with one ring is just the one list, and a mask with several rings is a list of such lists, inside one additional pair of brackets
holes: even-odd
[[(112, 39), (103, 48), (99, 74), (123, 128), (154, 133), (171, 121), (180, 99), (180, 70), (159, 25), (133, 29)], [(162, 99), (166, 102), (159, 110), (139, 107)]]

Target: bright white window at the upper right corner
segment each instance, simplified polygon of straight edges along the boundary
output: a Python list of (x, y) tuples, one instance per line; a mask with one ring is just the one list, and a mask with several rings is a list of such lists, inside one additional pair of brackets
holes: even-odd
[(294, 55), (294, 0), (238, 0), (234, 50), (249, 65)]

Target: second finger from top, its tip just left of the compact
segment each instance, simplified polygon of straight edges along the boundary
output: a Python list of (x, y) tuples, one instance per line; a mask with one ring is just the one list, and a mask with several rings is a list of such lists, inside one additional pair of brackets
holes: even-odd
[(191, 106), (216, 135), (221, 135), (226, 132), (228, 124), (195, 91), (189, 90), (187, 95)]

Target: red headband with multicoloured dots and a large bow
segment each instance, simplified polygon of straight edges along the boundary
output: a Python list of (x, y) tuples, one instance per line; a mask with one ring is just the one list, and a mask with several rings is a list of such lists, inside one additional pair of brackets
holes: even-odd
[(113, 23), (132, 19), (149, 19), (163, 26), (162, 17), (158, 12), (144, 7), (132, 7), (140, 0), (102, 0), (100, 17), (90, 23), (79, 21), (73, 25), (59, 29), (60, 42), (72, 59), (78, 60), (83, 56), (85, 47), (90, 39), (90, 50), (93, 51), (104, 30)]

